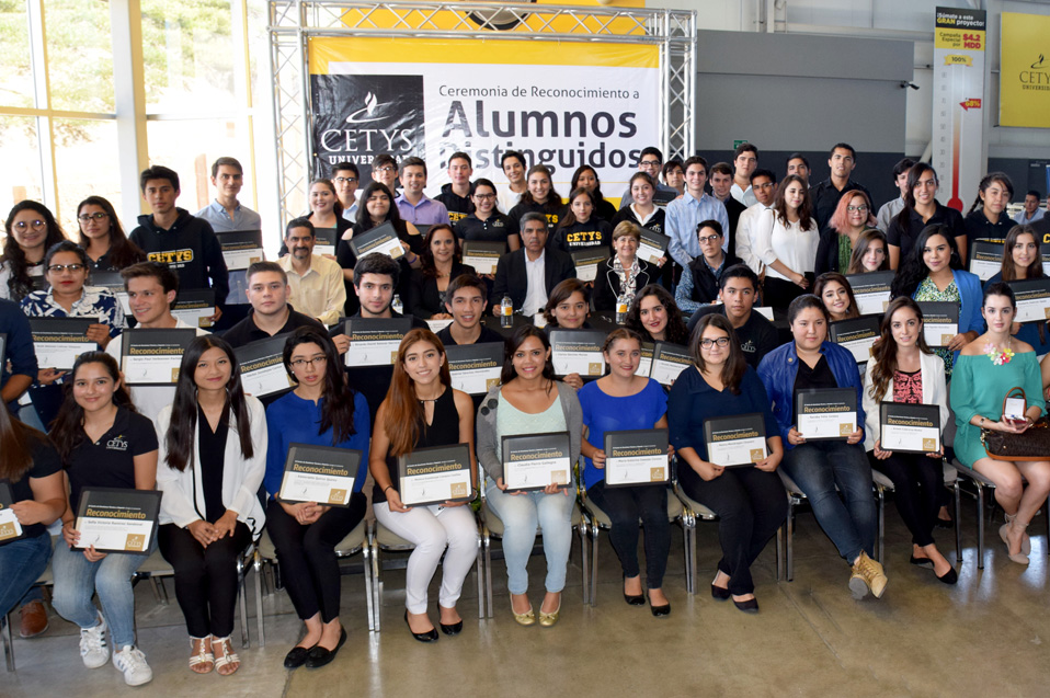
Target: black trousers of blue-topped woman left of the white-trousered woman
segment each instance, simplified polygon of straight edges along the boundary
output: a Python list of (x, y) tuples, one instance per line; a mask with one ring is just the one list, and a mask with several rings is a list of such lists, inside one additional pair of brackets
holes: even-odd
[(335, 546), (365, 517), (367, 502), (361, 492), (350, 496), (350, 506), (333, 506), (312, 524), (304, 526), (271, 500), (266, 530), (277, 549), (281, 579), (299, 618), (320, 611), (321, 620), (339, 617), (340, 575)]

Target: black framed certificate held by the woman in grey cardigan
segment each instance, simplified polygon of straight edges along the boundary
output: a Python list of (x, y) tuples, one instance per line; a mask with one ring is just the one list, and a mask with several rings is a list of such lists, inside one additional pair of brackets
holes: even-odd
[(503, 437), (503, 484), (509, 491), (568, 488), (572, 462), (568, 432)]

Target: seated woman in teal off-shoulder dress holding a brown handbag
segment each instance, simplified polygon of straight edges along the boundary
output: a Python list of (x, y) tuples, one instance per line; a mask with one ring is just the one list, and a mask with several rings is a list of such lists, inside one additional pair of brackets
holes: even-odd
[[(1027, 462), (991, 458), (981, 444), (981, 430), (1007, 434), (1027, 430), (1046, 409), (1042, 378), (1031, 345), (1009, 334), (1017, 309), (1009, 286), (989, 284), (981, 305), (988, 332), (962, 348), (951, 381), (951, 409), (959, 430), (956, 457), (995, 483), (995, 501), (1006, 512), (998, 535), (1009, 559), (1028, 564), (1031, 541), (1025, 529), (1050, 492), (1050, 458)], [(1003, 419), (1003, 398), (1014, 387), (1023, 388), (1028, 401), (1020, 424)]]

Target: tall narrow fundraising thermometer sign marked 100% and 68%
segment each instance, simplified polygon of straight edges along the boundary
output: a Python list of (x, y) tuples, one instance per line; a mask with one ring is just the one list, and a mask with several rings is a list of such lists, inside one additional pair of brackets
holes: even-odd
[(962, 210), (984, 175), (984, 10), (937, 8), (933, 165), (948, 206)]

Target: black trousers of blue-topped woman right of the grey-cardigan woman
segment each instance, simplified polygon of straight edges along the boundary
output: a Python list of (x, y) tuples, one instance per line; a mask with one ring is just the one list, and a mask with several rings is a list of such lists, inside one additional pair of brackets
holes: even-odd
[(671, 522), (667, 520), (667, 488), (647, 484), (628, 488), (606, 488), (602, 480), (587, 490), (613, 523), (609, 542), (619, 558), (624, 576), (640, 574), (638, 567), (638, 520), (646, 527), (646, 584), (661, 588), (667, 571), (671, 552)]

